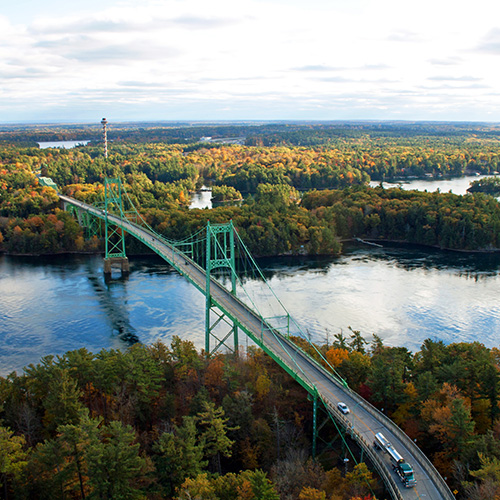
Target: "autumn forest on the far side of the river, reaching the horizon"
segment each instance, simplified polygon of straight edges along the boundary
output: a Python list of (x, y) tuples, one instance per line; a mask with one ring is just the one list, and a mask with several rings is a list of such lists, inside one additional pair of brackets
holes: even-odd
[[(473, 185), (467, 196), (384, 189), (384, 179), (497, 172), (498, 130), (436, 127), (254, 126), (246, 127), (248, 144), (200, 143), (199, 136), (188, 136), (214, 134), (216, 127), (118, 129), (107, 159), (101, 144), (39, 149), (26, 144), (46, 139), (43, 130), (0, 132), (0, 248), (16, 254), (102, 250), (102, 241), (85, 239), (61, 211), (54, 190), (40, 185), (41, 176), (91, 204), (102, 203), (104, 178), (120, 178), (141, 216), (171, 239), (186, 237), (207, 219), (231, 219), (256, 256), (336, 254), (351, 238), (466, 251), (500, 248), (498, 201), (484, 186)], [(227, 129), (219, 132), (242, 133)], [(76, 135), (69, 130), (57, 137)], [(373, 179), (381, 186), (368, 187)], [(189, 210), (191, 195), (203, 185), (212, 187), (214, 201), (225, 203)], [(146, 251), (134, 241), (127, 245), (132, 253)]]

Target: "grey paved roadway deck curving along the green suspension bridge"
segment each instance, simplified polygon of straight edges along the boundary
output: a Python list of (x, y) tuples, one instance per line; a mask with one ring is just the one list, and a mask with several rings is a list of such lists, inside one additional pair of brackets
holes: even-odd
[[(105, 213), (73, 198), (60, 195), (65, 203), (70, 203), (93, 215), (104, 219)], [(164, 242), (151, 231), (114, 215), (108, 221), (121, 227), (141, 240), (163, 257), (180, 274), (185, 276), (203, 294), (206, 293), (206, 274), (194, 261)], [(379, 412), (355, 392), (346, 388), (330, 372), (316, 363), (282, 334), (274, 331), (256, 312), (240, 299), (229, 293), (217, 281), (211, 280), (212, 301), (258, 345), (265, 346), (273, 359), (287, 367), (288, 372), (312, 395), (318, 395), (329, 413), (347, 429), (352, 438), (363, 448), (366, 455), (381, 474), (386, 487), (394, 499), (401, 500), (451, 500), (451, 493), (443, 478), (418, 446), (404, 434), (388, 417)], [(350, 413), (342, 414), (337, 403), (343, 401)], [(376, 451), (374, 436), (382, 432), (394, 448), (413, 466), (417, 485), (405, 488), (392, 470), (387, 454)]]

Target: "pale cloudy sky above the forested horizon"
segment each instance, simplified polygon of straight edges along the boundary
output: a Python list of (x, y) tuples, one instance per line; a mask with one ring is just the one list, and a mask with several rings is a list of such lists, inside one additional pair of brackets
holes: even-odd
[(500, 122), (498, 0), (11, 0), (0, 123)]

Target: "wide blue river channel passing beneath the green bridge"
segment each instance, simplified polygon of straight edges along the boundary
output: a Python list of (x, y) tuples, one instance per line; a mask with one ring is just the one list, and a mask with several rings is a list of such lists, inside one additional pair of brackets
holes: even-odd
[[(351, 326), (412, 351), (426, 338), (500, 345), (500, 255), (357, 245), (339, 258), (260, 264), (318, 341)], [(259, 282), (245, 289), (265, 307)], [(99, 256), (0, 257), (0, 375), (80, 347), (168, 344), (179, 335), (201, 348), (203, 332), (202, 294), (159, 258), (132, 258), (127, 279), (106, 283)]]

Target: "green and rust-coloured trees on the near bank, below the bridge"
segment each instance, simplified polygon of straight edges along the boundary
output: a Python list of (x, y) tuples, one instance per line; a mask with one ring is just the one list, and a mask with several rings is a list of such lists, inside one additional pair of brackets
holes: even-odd
[[(417, 440), (457, 498), (500, 492), (498, 349), (426, 340), (413, 354), (352, 329), (295, 341)], [(312, 404), (255, 347), (207, 358), (175, 337), (47, 356), (0, 377), (0, 403), (7, 498), (388, 498), (366, 464), (345, 468), (331, 422), (311, 460)]]

